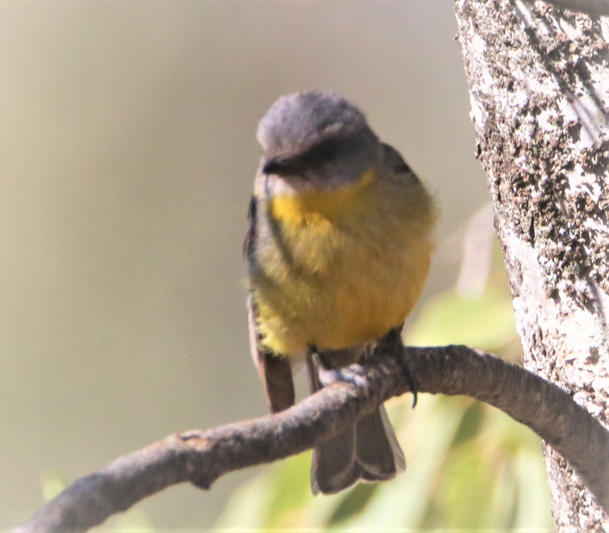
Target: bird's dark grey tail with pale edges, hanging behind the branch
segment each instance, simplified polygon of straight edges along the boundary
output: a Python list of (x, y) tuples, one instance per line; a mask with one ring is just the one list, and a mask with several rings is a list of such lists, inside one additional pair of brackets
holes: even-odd
[[(317, 370), (308, 361), (311, 392), (320, 389)], [(313, 450), (311, 490), (334, 494), (357, 481), (385, 481), (406, 469), (404, 452), (381, 405), (357, 420), (354, 428), (340, 433)]]

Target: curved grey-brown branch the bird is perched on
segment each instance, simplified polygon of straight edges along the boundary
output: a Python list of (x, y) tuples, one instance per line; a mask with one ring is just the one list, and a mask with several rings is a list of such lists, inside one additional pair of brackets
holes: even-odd
[[(407, 366), (407, 368), (405, 368)], [(377, 353), (364, 365), (325, 375), (333, 384), (282, 413), (206, 431), (174, 434), (79, 479), (24, 521), (18, 532), (85, 531), (171, 485), (208, 489), (233, 470), (312, 448), (392, 396), (409, 391), (471, 396), (532, 428), (579, 472), (609, 509), (609, 433), (557, 386), (499, 358), (465, 346)]]

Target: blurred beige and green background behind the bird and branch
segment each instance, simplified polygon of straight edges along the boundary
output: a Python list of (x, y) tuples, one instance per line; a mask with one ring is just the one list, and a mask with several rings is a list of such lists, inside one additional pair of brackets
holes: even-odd
[[(455, 32), (449, 0), (0, 3), (0, 529), (116, 456), (266, 413), (241, 244), (256, 123), (281, 94), (343, 92), (434, 192), (407, 340), (518, 358), (488, 211), (463, 261), (488, 196)], [(392, 402), (409, 462), (394, 482), (312, 500), (304, 454), (104, 528), (550, 523), (529, 431), (465, 399), (409, 403)]]

